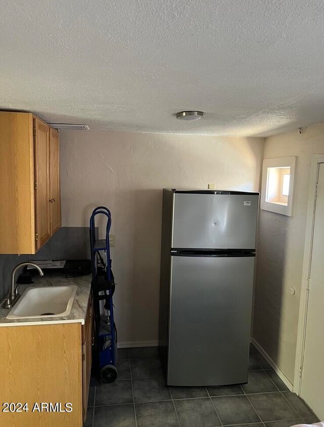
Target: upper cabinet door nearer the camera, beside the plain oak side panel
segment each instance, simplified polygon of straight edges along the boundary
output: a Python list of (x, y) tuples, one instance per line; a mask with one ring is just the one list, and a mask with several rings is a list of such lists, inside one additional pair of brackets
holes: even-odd
[(50, 128), (34, 119), (35, 232), (36, 249), (51, 237), (50, 223)]

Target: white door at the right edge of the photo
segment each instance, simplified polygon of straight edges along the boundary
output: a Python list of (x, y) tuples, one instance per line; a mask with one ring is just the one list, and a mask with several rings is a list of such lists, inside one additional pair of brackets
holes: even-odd
[(318, 173), (300, 395), (324, 420), (324, 163)]

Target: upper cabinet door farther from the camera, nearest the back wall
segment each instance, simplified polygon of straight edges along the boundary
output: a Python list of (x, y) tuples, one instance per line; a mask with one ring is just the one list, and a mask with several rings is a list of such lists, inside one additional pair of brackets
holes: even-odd
[(50, 205), (51, 235), (61, 226), (59, 134), (50, 129)]

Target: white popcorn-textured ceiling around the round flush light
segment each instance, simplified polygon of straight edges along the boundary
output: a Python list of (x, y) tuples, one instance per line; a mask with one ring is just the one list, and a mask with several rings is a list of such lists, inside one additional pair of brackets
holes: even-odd
[[(266, 136), (324, 121), (308, 0), (6, 0), (0, 108), (91, 129)], [(174, 113), (203, 110), (182, 123)]]

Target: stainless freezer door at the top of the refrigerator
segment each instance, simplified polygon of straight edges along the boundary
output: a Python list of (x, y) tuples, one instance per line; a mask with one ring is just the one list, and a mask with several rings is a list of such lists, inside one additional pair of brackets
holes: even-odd
[(255, 249), (259, 196), (174, 193), (172, 248)]

